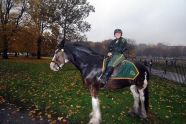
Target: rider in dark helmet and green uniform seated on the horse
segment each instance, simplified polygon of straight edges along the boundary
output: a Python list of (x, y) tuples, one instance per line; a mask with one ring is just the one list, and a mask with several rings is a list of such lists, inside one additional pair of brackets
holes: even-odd
[(114, 70), (114, 68), (120, 64), (124, 59), (124, 52), (127, 49), (127, 40), (122, 37), (122, 30), (115, 29), (114, 36), (116, 39), (111, 41), (108, 47), (108, 59), (109, 62), (105, 71), (102, 72), (101, 81), (106, 84)]

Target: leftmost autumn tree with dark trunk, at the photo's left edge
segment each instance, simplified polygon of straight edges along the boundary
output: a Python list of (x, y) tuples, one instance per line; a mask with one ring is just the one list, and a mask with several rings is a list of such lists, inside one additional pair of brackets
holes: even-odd
[(3, 44), (4, 59), (8, 59), (8, 45), (10, 38), (17, 31), (19, 22), (26, 9), (26, 0), (0, 1), (0, 31)]

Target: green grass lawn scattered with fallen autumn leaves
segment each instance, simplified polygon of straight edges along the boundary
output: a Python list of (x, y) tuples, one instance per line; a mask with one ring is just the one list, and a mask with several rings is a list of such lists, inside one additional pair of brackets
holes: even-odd
[[(44, 117), (69, 123), (87, 123), (91, 97), (82, 85), (79, 71), (66, 64), (53, 72), (48, 59), (0, 60), (0, 96), (29, 110), (31, 118)], [(149, 82), (150, 110), (148, 119), (127, 115), (133, 98), (129, 88), (100, 91), (103, 124), (186, 122), (186, 87), (151, 76)], [(1, 103), (3, 104), (3, 98)]]

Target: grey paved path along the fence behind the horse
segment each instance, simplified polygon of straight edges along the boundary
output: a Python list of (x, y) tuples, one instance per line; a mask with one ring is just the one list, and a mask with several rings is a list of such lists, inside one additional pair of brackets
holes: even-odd
[(166, 78), (168, 80), (171, 81), (175, 81), (181, 84), (186, 84), (186, 75), (180, 75), (178, 73), (174, 73), (174, 72), (167, 72), (166, 74), (164, 73), (164, 71), (162, 70), (157, 70), (157, 69), (151, 69), (151, 73), (153, 75), (162, 77), (162, 78)]

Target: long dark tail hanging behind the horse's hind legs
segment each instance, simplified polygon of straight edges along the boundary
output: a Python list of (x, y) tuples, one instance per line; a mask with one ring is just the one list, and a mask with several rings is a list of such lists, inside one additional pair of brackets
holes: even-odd
[(144, 89), (144, 97), (145, 97), (145, 110), (148, 112), (148, 108), (149, 108), (149, 90), (148, 90), (148, 80), (149, 80), (149, 73), (148, 71), (145, 72), (145, 80), (144, 83), (147, 84), (146, 88)]

